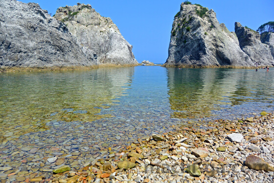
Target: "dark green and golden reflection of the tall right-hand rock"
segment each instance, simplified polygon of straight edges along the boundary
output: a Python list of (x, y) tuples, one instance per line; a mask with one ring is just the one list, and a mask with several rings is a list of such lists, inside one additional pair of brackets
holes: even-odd
[[(271, 90), (262, 89), (253, 77), (251, 70), (168, 68), (168, 94), (171, 109), (175, 111), (173, 117), (203, 118), (222, 107), (265, 102), (259, 95), (269, 96)], [(253, 85), (258, 90), (255, 93), (251, 88)]]

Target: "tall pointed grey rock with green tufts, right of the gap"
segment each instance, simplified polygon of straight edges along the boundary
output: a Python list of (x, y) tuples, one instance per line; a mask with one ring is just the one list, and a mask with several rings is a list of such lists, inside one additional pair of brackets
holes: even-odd
[[(164, 66), (251, 67), (255, 65), (240, 47), (234, 32), (219, 24), (213, 10), (194, 4), (181, 4), (172, 25), (168, 59)], [(263, 62), (272, 65), (273, 62)]]

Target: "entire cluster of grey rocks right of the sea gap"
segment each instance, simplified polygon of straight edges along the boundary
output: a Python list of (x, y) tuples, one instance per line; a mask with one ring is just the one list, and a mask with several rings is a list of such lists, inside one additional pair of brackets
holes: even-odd
[(259, 32), (235, 23), (235, 32), (219, 23), (216, 13), (185, 1), (174, 17), (168, 59), (164, 66), (274, 66), (274, 33)]

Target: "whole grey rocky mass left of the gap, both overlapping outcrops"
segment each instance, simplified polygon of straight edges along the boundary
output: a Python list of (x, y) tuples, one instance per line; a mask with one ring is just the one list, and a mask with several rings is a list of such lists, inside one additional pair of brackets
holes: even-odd
[(91, 5), (58, 8), (0, 0), (0, 67), (136, 65), (132, 45)]

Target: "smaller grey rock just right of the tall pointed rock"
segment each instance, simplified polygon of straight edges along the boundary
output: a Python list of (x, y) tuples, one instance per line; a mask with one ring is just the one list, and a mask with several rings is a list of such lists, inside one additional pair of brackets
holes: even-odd
[(252, 61), (258, 62), (259, 66), (274, 65), (269, 45), (261, 42), (258, 32), (235, 22), (235, 33), (241, 49), (249, 55)]

